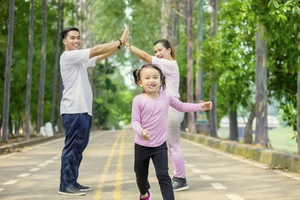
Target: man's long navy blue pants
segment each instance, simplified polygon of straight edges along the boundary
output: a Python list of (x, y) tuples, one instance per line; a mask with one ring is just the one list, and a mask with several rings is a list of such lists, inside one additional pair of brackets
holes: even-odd
[(65, 190), (75, 186), (82, 152), (87, 146), (91, 115), (87, 113), (62, 114), (65, 140), (61, 153), (60, 187)]

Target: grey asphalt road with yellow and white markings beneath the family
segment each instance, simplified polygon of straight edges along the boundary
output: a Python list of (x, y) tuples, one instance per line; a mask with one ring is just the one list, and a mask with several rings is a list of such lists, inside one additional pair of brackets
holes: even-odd
[[(64, 138), (0, 156), (0, 199), (138, 199), (133, 171), (134, 132), (94, 131), (83, 152), (78, 182), (83, 196), (58, 194)], [(181, 139), (188, 190), (175, 199), (299, 200), (300, 174), (271, 170), (262, 163)], [(169, 163), (169, 174), (172, 177)], [(151, 200), (162, 199), (150, 162)]]

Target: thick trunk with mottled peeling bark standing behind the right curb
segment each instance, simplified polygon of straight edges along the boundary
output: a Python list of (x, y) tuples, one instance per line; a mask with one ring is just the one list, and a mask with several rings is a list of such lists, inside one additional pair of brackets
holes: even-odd
[(265, 28), (257, 24), (255, 35), (255, 116), (256, 129), (254, 143), (267, 146), (267, 59)]

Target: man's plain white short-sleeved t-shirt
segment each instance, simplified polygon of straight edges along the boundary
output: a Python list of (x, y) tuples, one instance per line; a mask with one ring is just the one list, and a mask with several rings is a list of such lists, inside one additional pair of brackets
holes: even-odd
[(60, 55), (60, 74), (64, 89), (60, 114), (87, 112), (91, 115), (92, 90), (87, 67), (95, 66), (97, 56), (89, 58), (90, 48), (64, 51)]

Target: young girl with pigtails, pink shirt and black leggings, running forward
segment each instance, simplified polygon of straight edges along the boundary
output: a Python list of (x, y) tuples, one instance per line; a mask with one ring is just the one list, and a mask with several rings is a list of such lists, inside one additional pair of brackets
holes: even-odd
[(135, 84), (143, 88), (143, 93), (133, 98), (131, 117), (131, 125), (135, 131), (134, 172), (140, 191), (139, 199), (151, 198), (148, 190), (148, 168), (151, 158), (162, 197), (172, 200), (174, 192), (168, 174), (165, 141), (168, 107), (172, 106), (180, 112), (189, 112), (211, 109), (212, 103), (183, 103), (171, 93), (164, 92), (165, 76), (159, 66), (152, 63), (134, 69), (133, 77)]

